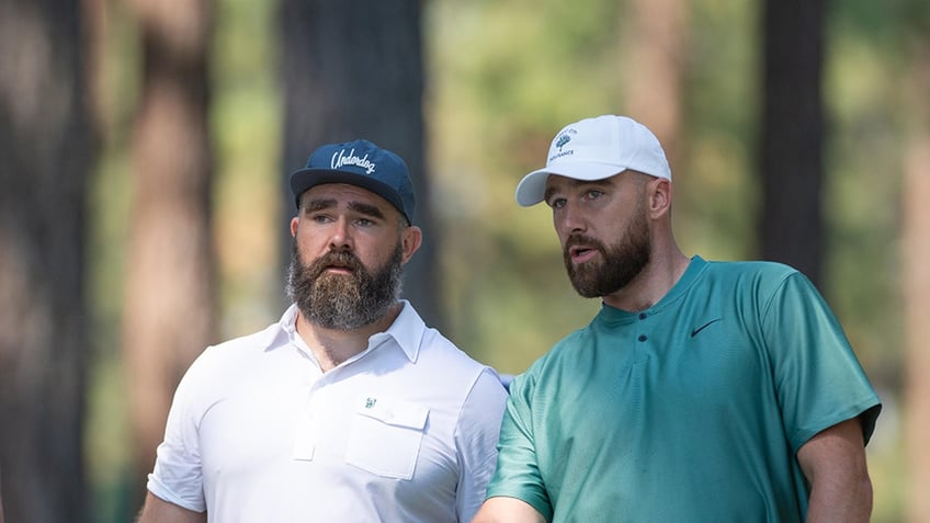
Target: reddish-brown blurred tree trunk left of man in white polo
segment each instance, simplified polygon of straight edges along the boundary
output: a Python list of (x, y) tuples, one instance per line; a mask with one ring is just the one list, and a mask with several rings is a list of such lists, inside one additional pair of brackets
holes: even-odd
[(216, 338), (207, 130), (212, 13), (209, 0), (135, 0), (134, 7), (144, 70), (123, 326), (141, 480), (179, 379)]

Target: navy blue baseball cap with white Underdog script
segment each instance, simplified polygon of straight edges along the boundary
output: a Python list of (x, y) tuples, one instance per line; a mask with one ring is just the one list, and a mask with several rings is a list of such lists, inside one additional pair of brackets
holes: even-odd
[(304, 191), (324, 183), (348, 183), (390, 202), (413, 223), (413, 183), (407, 163), (394, 152), (368, 140), (327, 144), (315, 150), (304, 169), (291, 174), (294, 202), (300, 206)]

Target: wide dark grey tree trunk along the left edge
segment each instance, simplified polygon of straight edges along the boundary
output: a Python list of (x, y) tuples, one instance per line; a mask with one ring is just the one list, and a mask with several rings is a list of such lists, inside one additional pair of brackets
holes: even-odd
[(12, 522), (82, 522), (88, 115), (80, 2), (0, 0), (0, 468)]

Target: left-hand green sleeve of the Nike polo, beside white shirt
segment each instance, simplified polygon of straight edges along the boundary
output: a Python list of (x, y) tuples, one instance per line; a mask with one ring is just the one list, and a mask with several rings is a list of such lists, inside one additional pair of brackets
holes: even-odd
[[(532, 371), (532, 368), (531, 368)], [(536, 459), (532, 398), (534, 380), (528, 372), (513, 378), (500, 428), (498, 463), (487, 498), (517, 498), (531, 504), (546, 521), (553, 507)]]

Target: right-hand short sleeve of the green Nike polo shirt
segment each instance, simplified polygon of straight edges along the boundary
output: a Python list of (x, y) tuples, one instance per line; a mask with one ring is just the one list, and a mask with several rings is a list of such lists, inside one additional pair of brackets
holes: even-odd
[(862, 414), (867, 443), (881, 410), (839, 321), (803, 274), (775, 288), (763, 330), (794, 452), (818, 432)]

